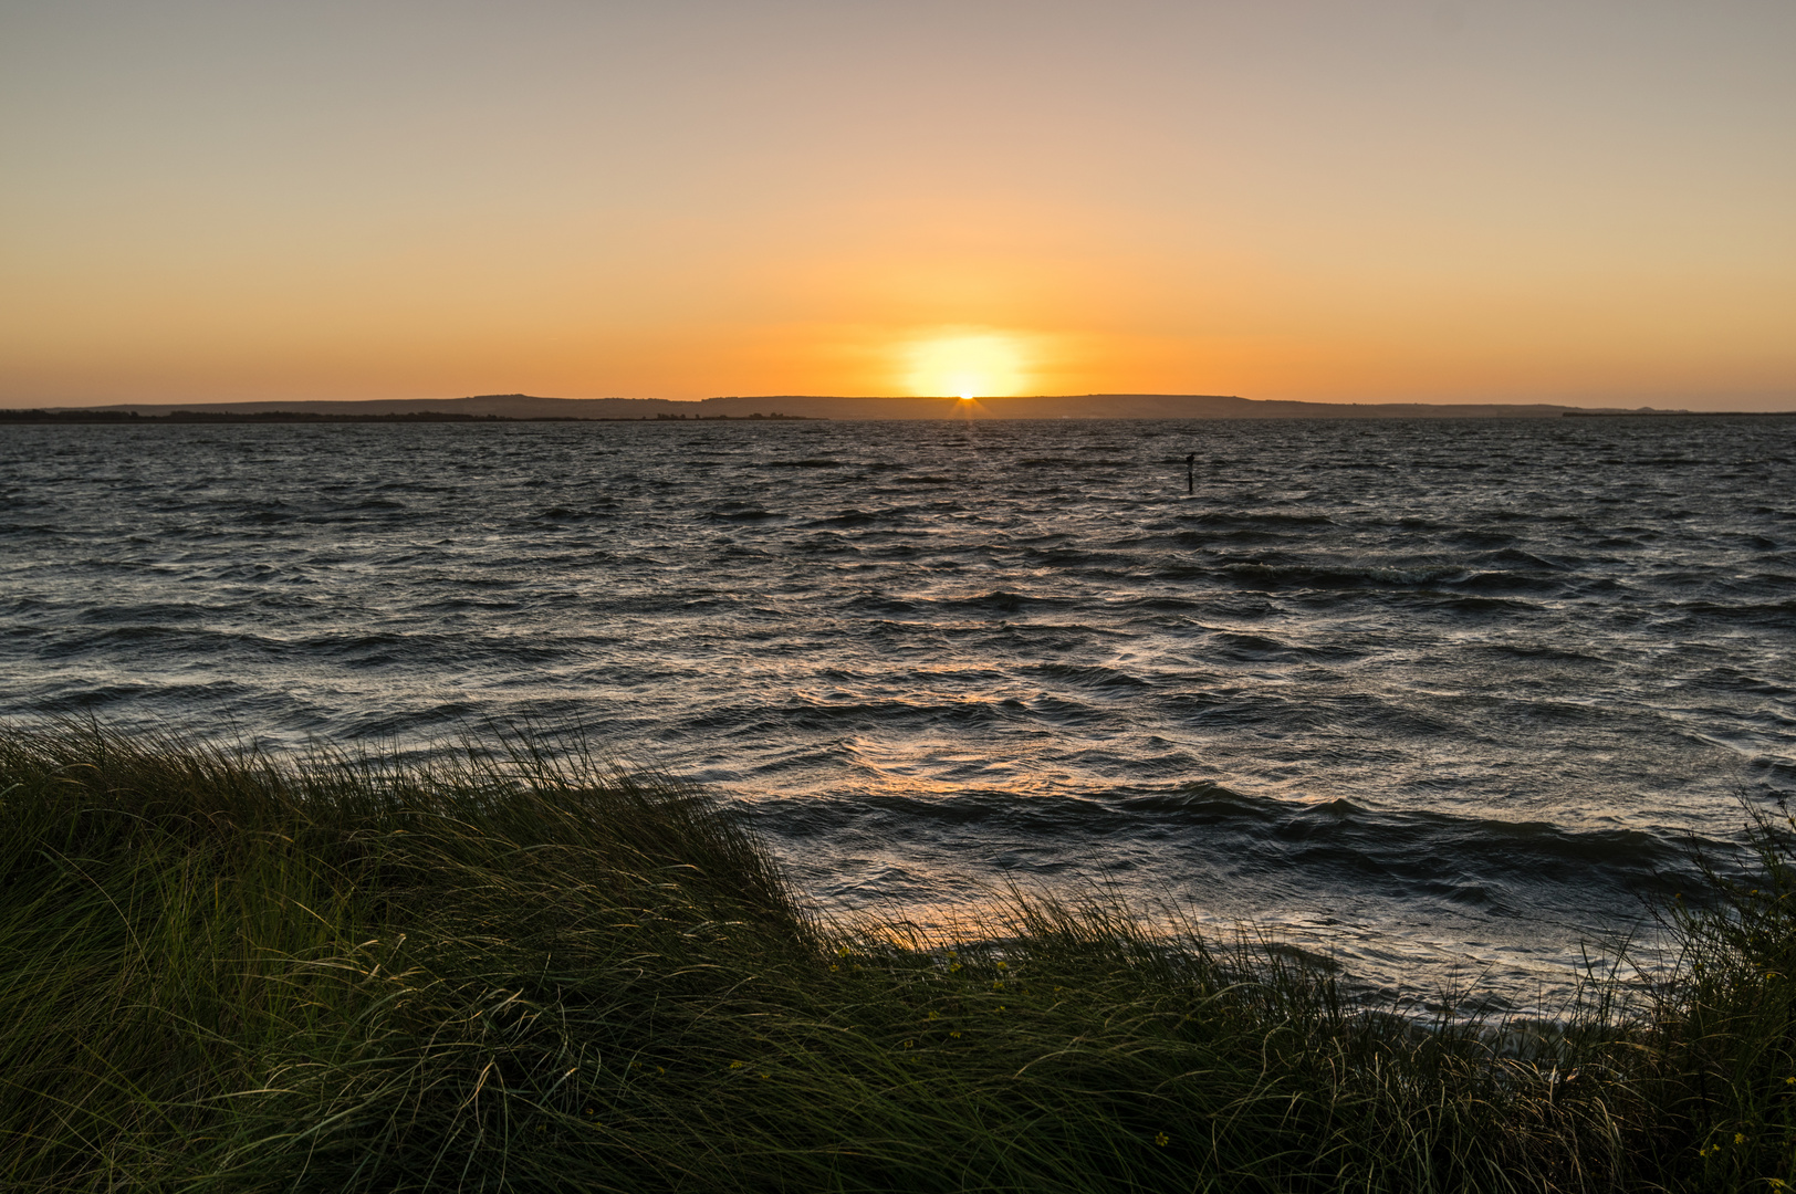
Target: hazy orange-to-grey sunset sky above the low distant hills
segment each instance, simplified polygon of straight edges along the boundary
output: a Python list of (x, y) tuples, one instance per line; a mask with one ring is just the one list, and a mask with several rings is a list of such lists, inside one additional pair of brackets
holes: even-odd
[(1792, 63), (1791, 0), (0, 0), (0, 406), (1787, 409)]

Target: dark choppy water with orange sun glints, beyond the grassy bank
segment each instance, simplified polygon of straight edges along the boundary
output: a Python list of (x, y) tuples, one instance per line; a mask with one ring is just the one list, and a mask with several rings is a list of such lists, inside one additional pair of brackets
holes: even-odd
[(1796, 790), (1792, 431), (7, 427), (0, 715), (580, 724), (835, 905), (1096, 878), (1527, 1002)]

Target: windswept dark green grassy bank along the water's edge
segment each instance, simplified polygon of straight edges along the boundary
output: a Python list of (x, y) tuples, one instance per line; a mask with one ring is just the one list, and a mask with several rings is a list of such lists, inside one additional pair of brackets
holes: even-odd
[(0, 1189), (1782, 1189), (1796, 885), (1762, 840), (1649, 1009), (1518, 1038), (1097, 907), (823, 923), (700, 794), (528, 747), (11, 729)]

